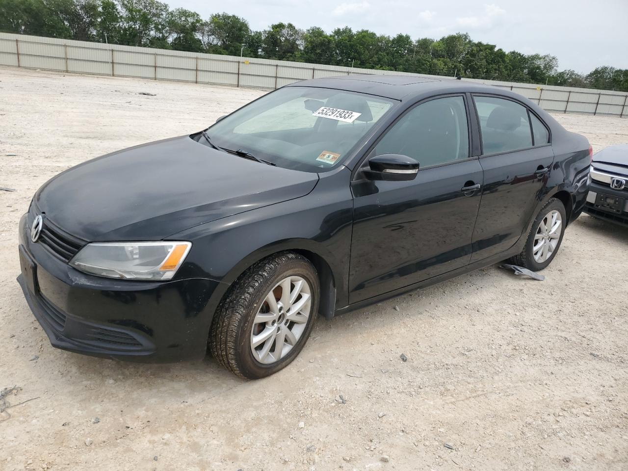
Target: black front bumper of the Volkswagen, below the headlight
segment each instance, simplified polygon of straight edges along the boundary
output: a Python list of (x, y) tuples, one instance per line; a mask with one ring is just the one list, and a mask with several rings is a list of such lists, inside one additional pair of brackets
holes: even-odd
[(127, 281), (90, 276), (26, 237), (19, 225), (18, 276), (53, 347), (81, 354), (174, 362), (202, 358), (219, 286), (210, 279)]

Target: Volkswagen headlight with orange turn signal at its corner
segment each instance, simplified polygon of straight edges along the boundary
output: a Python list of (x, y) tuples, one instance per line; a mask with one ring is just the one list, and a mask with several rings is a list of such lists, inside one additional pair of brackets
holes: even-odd
[(70, 265), (107, 278), (171, 279), (191, 242), (99, 242), (87, 244)]

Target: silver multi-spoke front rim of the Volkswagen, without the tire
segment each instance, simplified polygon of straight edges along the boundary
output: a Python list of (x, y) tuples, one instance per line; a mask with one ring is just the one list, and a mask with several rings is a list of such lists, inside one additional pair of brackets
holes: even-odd
[(251, 328), (251, 352), (260, 363), (286, 356), (303, 335), (311, 315), (311, 287), (300, 276), (288, 276), (264, 298)]

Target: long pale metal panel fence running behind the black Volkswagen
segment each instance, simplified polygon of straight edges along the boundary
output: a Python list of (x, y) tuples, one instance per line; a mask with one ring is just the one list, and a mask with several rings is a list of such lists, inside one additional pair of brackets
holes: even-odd
[[(195, 84), (276, 89), (308, 78), (335, 75), (436, 75), (242, 58), (0, 33), (0, 65)], [(510, 89), (551, 112), (628, 116), (628, 93), (609, 90), (463, 79)]]

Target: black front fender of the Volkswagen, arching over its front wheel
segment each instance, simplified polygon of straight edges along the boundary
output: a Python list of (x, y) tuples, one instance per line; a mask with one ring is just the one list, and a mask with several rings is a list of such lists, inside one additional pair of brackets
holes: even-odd
[(345, 169), (323, 175), (317, 187), (304, 197), (208, 222), (169, 237), (193, 244), (177, 277), (220, 281), (208, 302), (208, 317), (213, 317), (230, 284), (247, 268), (286, 250), (306, 256), (309, 253), (324, 261), (336, 291), (335, 305), (347, 305), (353, 222), (350, 172)]

